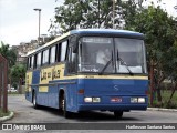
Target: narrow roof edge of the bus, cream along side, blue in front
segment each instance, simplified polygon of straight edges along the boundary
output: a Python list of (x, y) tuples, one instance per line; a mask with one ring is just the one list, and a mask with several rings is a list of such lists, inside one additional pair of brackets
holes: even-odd
[(71, 34), (117, 34), (117, 35), (133, 35), (133, 37), (139, 37), (143, 38), (144, 34), (135, 31), (128, 31), (128, 30), (115, 30), (115, 29), (79, 29), (79, 30), (72, 30), (67, 33), (62, 34), (61, 37), (55, 38), (54, 40), (43, 44), (42, 47), (37, 48), (33, 51), (28, 52), (27, 57), (30, 54), (35, 53), (39, 50), (42, 50), (43, 48), (46, 48)]

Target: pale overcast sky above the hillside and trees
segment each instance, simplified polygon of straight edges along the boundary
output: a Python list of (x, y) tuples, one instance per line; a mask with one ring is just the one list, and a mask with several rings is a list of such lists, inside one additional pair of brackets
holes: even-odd
[[(56, 2), (55, 2), (56, 1)], [(41, 34), (49, 34), (50, 19), (54, 18), (54, 8), (63, 4), (64, 0), (0, 0), (0, 41), (10, 45), (30, 42), (38, 38), (39, 12), (41, 11)], [(152, 0), (146, 0), (150, 2)], [(153, 0), (156, 2), (156, 0)], [(163, 0), (163, 8), (169, 14), (177, 17), (174, 6), (177, 0)]]

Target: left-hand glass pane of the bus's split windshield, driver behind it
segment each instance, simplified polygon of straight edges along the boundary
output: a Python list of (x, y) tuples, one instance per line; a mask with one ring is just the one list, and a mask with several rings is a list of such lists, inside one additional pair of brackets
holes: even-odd
[(79, 71), (114, 73), (112, 60), (113, 39), (100, 37), (84, 37), (79, 45)]

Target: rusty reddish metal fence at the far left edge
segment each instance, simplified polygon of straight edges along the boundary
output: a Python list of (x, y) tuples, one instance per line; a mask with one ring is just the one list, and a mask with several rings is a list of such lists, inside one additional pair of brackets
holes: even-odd
[(0, 54), (0, 109), (8, 112), (8, 61)]

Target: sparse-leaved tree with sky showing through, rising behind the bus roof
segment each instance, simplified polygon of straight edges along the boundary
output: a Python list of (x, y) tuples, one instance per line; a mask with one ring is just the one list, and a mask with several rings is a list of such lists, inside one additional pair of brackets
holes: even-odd
[[(115, 4), (115, 24), (122, 18), (119, 4)], [(60, 28), (61, 33), (77, 28), (113, 28), (112, 0), (65, 0), (55, 8), (55, 19), (51, 20), (51, 30)]]

